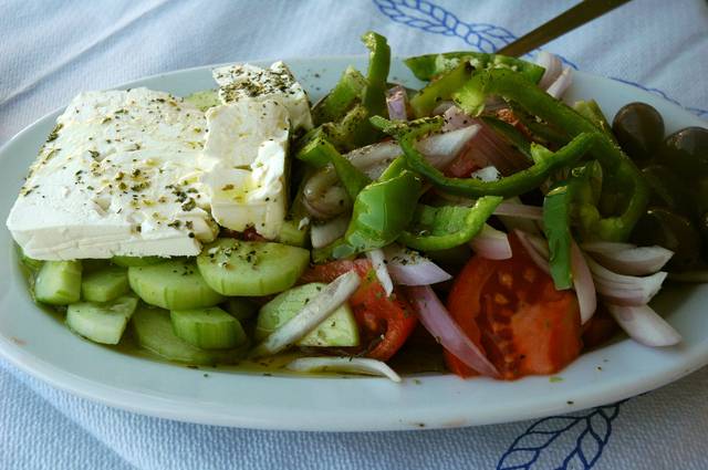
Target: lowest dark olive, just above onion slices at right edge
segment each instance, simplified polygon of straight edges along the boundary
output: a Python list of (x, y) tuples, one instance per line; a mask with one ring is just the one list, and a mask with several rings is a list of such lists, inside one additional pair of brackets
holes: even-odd
[(684, 271), (700, 264), (700, 236), (684, 216), (664, 208), (652, 207), (639, 219), (632, 241), (641, 246), (658, 244), (674, 252), (666, 265), (668, 271)]

